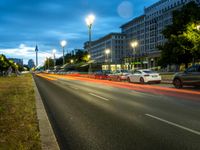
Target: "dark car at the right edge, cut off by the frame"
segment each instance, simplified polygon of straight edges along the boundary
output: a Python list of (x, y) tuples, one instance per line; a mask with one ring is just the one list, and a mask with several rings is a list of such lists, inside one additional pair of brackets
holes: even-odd
[(176, 88), (182, 88), (184, 85), (200, 86), (200, 65), (193, 65), (183, 73), (175, 74), (173, 84)]

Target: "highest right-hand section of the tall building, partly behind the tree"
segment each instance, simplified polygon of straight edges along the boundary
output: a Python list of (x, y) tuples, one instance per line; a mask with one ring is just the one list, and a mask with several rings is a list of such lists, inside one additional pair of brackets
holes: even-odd
[(191, 1), (200, 2), (200, 0), (160, 0), (144, 9), (145, 49), (148, 54), (148, 67), (157, 66), (160, 57), (160, 51), (157, 47), (166, 42), (162, 31), (166, 26), (172, 24), (173, 11)]

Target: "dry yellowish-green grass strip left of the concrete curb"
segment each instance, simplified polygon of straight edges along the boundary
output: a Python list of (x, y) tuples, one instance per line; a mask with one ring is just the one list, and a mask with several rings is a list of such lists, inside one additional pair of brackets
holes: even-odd
[(31, 74), (0, 77), (0, 150), (40, 150)]

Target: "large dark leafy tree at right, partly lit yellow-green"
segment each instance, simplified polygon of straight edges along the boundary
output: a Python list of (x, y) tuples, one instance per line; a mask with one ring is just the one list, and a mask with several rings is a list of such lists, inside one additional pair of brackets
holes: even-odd
[[(199, 54), (198, 34), (192, 29), (200, 21), (200, 7), (195, 2), (190, 2), (180, 10), (173, 12), (173, 23), (163, 30), (167, 42), (159, 46), (161, 50), (161, 65), (182, 64), (186, 68)], [(193, 38), (192, 38), (193, 37)], [(195, 38), (194, 38), (195, 37)], [(198, 56), (199, 58), (199, 56)]]

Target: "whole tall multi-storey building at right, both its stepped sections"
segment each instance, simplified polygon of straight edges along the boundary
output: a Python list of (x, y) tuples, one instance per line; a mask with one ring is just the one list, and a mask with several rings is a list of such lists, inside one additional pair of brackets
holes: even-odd
[(126, 57), (131, 51), (130, 42), (138, 41), (134, 57), (138, 67), (153, 68), (157, 66), (160, 51), (157, 46), (163, 45), (166, 39), (162, 35), (163, 29), (172, 24), (172, 12), (183, 5), (200, 0), (160, 0), (144, 9), (144, 15), (134, 18), (121, 26), (122, 33), (127, 35), (125, 51)]

